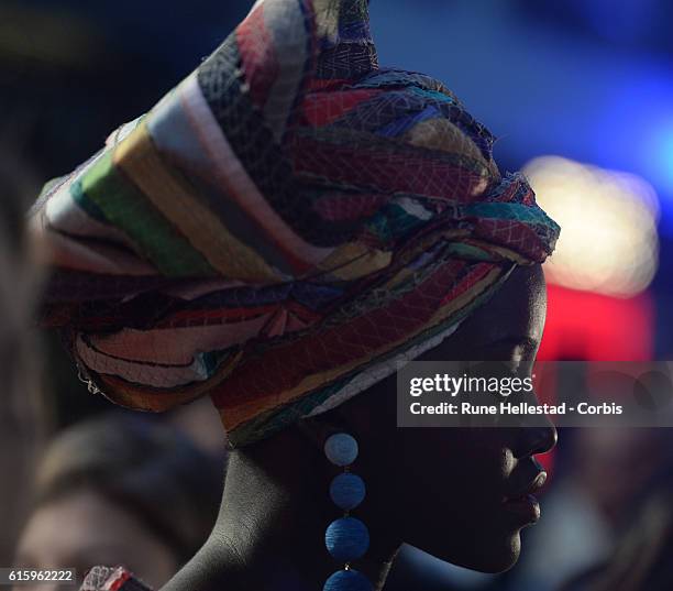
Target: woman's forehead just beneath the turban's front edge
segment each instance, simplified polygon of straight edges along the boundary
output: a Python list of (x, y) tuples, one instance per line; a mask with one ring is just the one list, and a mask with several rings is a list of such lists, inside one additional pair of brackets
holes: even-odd
[(518, 266), (484, 306), (422, 359), (476, 361), (479, 358), (472, 358), (473, 353), (503, 341), (529, 341), (537, 349), (545, 315), (547, 285), (542, 266)]

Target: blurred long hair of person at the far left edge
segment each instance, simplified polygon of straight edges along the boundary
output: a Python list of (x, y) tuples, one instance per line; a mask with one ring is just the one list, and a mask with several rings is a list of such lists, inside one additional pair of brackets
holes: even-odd
[(37, 187), (30, 165), (0, 133), (0, 565), (12, 557), (26, 508), (22, 494), (43, 425), (37, 407), (38, 351), (27, 330), (37, 299), (38, 273), (23, 229)]

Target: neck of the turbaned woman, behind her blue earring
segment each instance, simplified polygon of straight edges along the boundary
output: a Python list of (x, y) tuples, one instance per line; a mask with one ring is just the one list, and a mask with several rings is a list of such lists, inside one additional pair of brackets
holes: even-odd
[[(329, 462), (306, 448), (305, 439), (289, 433), (274, 437), (273, 448), (267, 442), (233, 451), (210, 538), (163, 591), (322, 589), (343, 568), (324, 547), (324, 530), (340, 510), (328, 494), (334, 475)], [(353, 568), (382, 589), (399, 544), (366, 513), (354, 512), (369, 527), (371, 547)]]

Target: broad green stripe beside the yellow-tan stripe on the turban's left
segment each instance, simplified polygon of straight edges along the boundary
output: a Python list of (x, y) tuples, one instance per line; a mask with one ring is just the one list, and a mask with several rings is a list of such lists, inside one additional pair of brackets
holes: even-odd
[(108, 222), (129, 236), (140, 254), (164, 275), (217, 275), (208, 261), (115, 168), (112, 151), (82, 175), (80, 195), (92, 201)]

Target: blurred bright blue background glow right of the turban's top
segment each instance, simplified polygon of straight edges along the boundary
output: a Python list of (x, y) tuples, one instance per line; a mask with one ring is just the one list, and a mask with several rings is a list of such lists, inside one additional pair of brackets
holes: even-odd
[(520, 166), (558, 154), (640, 175), (657, 189), (661, 229), (673, 237), (670, 63), (532, 25), (505, 0), (387, 0), (372, 12), (382, 62), (443, 79), (499, 138), (498, 158)]

